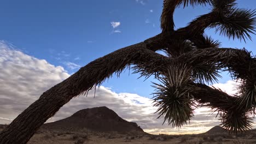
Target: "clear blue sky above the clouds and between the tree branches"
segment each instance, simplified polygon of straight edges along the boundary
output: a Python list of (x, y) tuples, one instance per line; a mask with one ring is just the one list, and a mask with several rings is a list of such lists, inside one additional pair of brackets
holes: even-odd
[[(238, 7), (255, 9), (256, 2), (237, 1)], [(138, 43), (161, 32), (162, 1), (2, 1), (0, 5), (0, 40), (8, 41), (27, 55), (61, 65), (69, 74), (98, 57), (121, 47)], [(210, 7), (180, 8), (174, 14), (176, 28), (187, 25)], [(113, 27), (110, 22), (120, 22)], [(256, 51), (253, 41), (228, 40), (207, 29), (207, 34), (222, 41), (223, 47)], [(256, 37), (252, 35), (254, 40)], [(103, 86), (115, 92), (137, 93), (151, 98), (152, 79), (137, 80), (138, 75), (113, 77)], [(230, 80), (226, 74), (219, 82)]]

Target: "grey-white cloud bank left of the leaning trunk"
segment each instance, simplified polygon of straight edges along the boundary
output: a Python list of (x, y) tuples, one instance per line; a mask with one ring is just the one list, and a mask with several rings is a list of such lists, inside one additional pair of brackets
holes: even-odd
[(0, 67), (0, 122), (14, 119), (41, 93), (69, 76), (62, 67), (28, 56), (4, 41), (0, 41)]

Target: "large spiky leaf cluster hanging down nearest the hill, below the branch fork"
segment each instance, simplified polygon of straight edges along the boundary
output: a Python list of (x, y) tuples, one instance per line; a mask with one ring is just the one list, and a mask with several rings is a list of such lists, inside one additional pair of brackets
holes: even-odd
[(188, 85), (190, 69), (185, 64), (173, 64), (167, 73), (159, 77), (160, 84), (154, 83), (154, 106), (158, 106), (159, 117), (172, 127), (180, 128), (193, 117), (195, 103), (193, 88)]

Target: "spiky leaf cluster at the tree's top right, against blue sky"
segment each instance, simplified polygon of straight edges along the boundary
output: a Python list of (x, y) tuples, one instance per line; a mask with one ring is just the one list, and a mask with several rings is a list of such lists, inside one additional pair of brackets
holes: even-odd
[(228, 38), (251, 39), (249, 34), (254, 34), (256, 26), (255, 10), (236, 8), (235, 0), (213, 0), (212, 7), (220, 20), (210, 27), (216, 28), (216, 31)]

